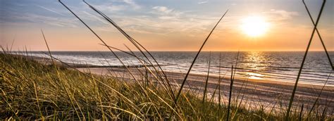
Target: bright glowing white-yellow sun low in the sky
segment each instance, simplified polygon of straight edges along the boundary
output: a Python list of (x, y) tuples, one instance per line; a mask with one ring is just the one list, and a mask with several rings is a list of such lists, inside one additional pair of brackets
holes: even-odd
[(242, 31), (250, 37), (259, 37), (268, 30), (269, 23), (261, 16), (249, 16), (242, 19)]

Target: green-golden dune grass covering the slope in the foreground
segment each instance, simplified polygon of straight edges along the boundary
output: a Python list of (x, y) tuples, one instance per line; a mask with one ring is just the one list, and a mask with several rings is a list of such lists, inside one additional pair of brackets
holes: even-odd
[[(225, 120), (227, 106), (183, 91), (178, 106), (166, 91), (149, 83), (120, 81), (61, 66), (42, 65), (22, 56), (0, 54), (0, 119), (44, 120), (158, 120), (173, 113), (175, 120)], [(56, 68), (55, 68), (56, 67)], [(283, 112), (271, 115), (263, 108), (250, 110), (231, 104), (233, 120), (283, 120)], [(237, 107), (237, 108), (235, 108)], [(204, 109), (204, 110), (203, 110)], [(221, 110), (218, 112), (217, 110)], [(303, 117), (306, 119), (306, 117)], [(333, 120), (333, 116), (312, 113), (309, 120)], [(298, 120), (299, 111), (290, 115)]]

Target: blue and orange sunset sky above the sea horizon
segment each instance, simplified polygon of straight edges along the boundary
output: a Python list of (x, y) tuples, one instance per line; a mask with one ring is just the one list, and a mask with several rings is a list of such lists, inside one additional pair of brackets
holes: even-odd
[[(322, 1), (305, 0), (314, 19)], [(229, 10), (204, 51), (303, 51), (313, 24), (302, 0), (87, 0), (149, 51), (197, 51), (221, 15)], [(63, 0), (109, 46), (127, 50), (130, 42), (81, 0)], [(318, 30), (334, 50), (334, 1), (328, 0)], [(257, 37), (242, 30), (245, 18), (268, 24)], [(16, 51), (107, 51), (57, 0), (0, 0), (0, 44)], [(256, 30), (259, 28), (251, 28)], [(323, 51), (315, 34), (312, 51)]]

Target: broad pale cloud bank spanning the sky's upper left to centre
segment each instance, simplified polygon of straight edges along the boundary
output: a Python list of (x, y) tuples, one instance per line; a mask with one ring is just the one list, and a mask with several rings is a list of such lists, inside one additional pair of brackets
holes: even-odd
[[(201, 0), (205, 1), (205, 0)], [(196, 4), (196, 3), (195, 3)], [(35, 6), (35, 5), (33, 5)], [(37, 7), (36, 7), (37, 6)], [(54, 27), (83, 27), (73, 15), (71, 15), (64, 8), (49, 8), (36, 5), (39, 11), (47, 13), (25, 13), (18, 12), (18, 15), (11, 14), (10, 18), (4, 19), (6, 24), (13, 23), (13, 25), (29, 24), (29, 25), (53, 25)], [(48, 5), (49, 6), (49, 5)], [(132, 0), (111, 0), (104, 4), (95, 3), (93, 5), (100, 11), (109, 15), (120, 27), (126, 32), (140, 33), (140, 34), (159, 34), (171, 35), (184, 33), (183, 36), (196, 37), (204, 32), (208, 32), (218, 18), (210, 15), (197, 14), (192, 11), (180, 11), (170, 6), (153, 6), (149, 9), (141, 9), (140, 12), (147, 14), (127, 14), (128, 11), (136, 11), (139, 5)], [(137, 6), (137, 7), (136, 7)], [(115, 29), (106, 23), (104, 18), (91, 11), (87, 6), (71, 6), (77, 15), (85, 20), (85, 22), (97, 31), (114, 32)], [(63, 10), (63, 11), (61, 11)], [(51, 13), (57, 15), (51, 15)], [(80, 11), (80, 12), (79, 12)], [(191, 14), (186, 14), (191, 13)], [(1, 18), (1, 16), (0, 16)], [(2, 21), (2, 20), (1, 20)], [(4, 22), (4, 24), (5, 24)], [(1, 23), (0, 23), (1, 24)]]

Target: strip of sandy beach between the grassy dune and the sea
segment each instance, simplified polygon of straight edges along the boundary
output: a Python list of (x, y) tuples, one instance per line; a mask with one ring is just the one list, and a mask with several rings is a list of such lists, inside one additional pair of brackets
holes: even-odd
[[(52, 64), (50, 58), (42, 58), (42, 57), (29, 57), (32, 60), (36, 60), (39, 63), (44, 65)], [(55, 61), (56, 65), (62, 65), (63, 63), (59, 61)], [(74, 65), (77, 70), (81, 72), (91, 72), (92, 74), (101, 75), (101, 76), (112, 76), (120, 79), (132, 79), (128, 72), (125, 71), (125, 68), (110, 68), (110, 67), (101, 67), (94, 68), (94, 66), (89, 65), (76, 65), (74, 63), (67, 63), (68, 65)], [(68, 66), (68, 65), (65, 65)], [(93, 68), (91, 68), (93, 67)], [(69, 68), (69, 67), (67, 67)], [(130, 71), (134, 72), (135, 77), (140, 77), (140, 70), (138, 68), (130, 68)], [(183, 72), (166, 72), (168, 79), (174, 81), (173, 87), (178, 90), (178, 86), (183, 82), (185, 73)], [(140, 79), (140, 78), (139, 78)], [(203, 87), (205, 84), (206, 75), (193, 74), (191, 73), (187, 79), (185, 88), (190, 91), (197, 91), (196, 93), (201, 94), (203, 92)], [(209, 75), (208, 81), (208, 95), (212, 95), (214, 89), (216, 89), (218, 83), (218, 76)], [(263, 80), (263, 79), (247, 79), (245, 77), (235, 77), (235, 84), (233, 85), (233, 91), (240, 92), (243, 91), (243, 95), (245, 96), (245, 100), (252, 103), (265, 103), (268, 107), (272, 107), (276, 105), (278, 102), (278, 98), (282, 101), (284, 106), (287, 105), (287, 101), (291, 96), (292, 89), (294, 87), (293, 82), (279, 82), (272, 80)], [(314, 84), (302, 84), (298, 83), (296, 96), (295, 96), (295, 105), (296, 103), (303, 103), (305, 109), (307, 110), (310, 106), (316, 101), (316, 97), (318, 93), (322, 89), (323, 85), (314, 85)], [(230, 78), (223, 77), (221, 79), (221, 92), (223, 93), (223, 100), (228, 96), (224, 94), (228, 94), (230, 88)], [(237, 96), (236, 94), (233, 97)], [(329, 103), (328, 103), (329, 102)], [(332, 103), (330, 103), (332, 102)], [(319, 106), (328, 106), (334, 107), (334, 88), (332, 86), (326, 86), (323, 88), (323, 92), (318, 99)], [(294, 106), (295, 106), (294, 105)], [(330, 108), (329, 110), (333, 110)]]

